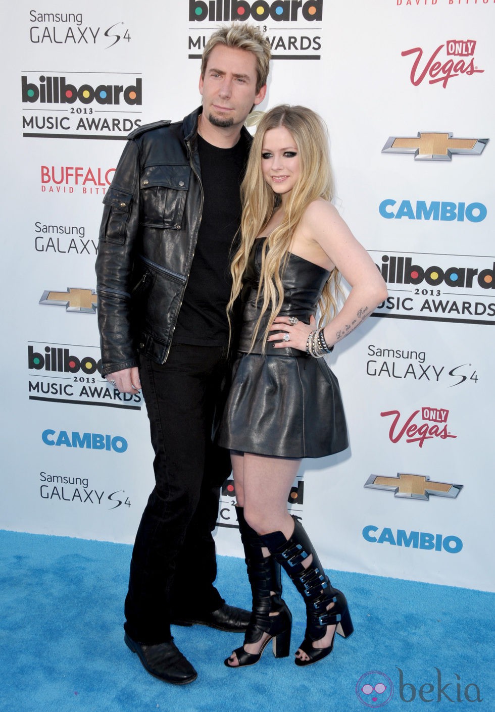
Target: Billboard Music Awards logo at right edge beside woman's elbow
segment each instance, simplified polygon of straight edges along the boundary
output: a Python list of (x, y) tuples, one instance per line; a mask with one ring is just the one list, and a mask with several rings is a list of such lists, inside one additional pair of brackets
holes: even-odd
[(373, 317), (495, 324), (495, 259), (370, 250), (389, 296)]

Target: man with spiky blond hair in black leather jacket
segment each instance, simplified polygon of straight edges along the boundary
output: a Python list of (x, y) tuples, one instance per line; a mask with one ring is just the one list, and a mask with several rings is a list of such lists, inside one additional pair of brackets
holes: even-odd
[(251, 137), (244, 120), (266, 94), (270, 47), (234, 23), (204, 48), (202, 107), (129, 136), (105, 209), (96, 261), (103, 375), (142, 387), (156, 485), (137, 531), (125, 600), (125, 642), (150, 674), (197, 677), (170, 623), (244, 631), (227, 605), (212, 531), (229, 455), (212, 434), (226, 378), (229, 255)]

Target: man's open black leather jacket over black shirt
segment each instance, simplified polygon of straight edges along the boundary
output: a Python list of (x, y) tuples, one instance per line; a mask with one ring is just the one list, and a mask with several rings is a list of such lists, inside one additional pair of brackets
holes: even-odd
[(96, 274), (104, 376), (137, 365), (137, 352), (167, 360), (202, 216), (201, 111), (133, 131), (103, 199)]

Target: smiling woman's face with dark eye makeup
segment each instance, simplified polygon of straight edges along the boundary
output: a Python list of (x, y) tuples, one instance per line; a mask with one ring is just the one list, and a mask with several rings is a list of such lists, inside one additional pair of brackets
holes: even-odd
[(261, 171), (266, 183), (283, 202), (301, 174), (296, 142), (286, 127), (266, 131), (261, 145)]

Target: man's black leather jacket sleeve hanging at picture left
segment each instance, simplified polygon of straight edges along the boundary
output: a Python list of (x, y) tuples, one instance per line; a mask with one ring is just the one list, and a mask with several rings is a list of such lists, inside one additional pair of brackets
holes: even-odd
[(137, 365), (130, 297), (132, 264), (140, 229), (139, 177), (139, 146), (130, 140), (103, 199), (95, 263), (103, 376)]

